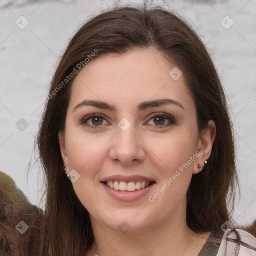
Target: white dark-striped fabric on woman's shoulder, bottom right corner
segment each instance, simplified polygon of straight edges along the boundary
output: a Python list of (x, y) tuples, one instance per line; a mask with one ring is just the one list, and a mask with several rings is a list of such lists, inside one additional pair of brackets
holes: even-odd
[(241, 229), (224, 233), (217, 256), (224, 255), (256, 256), (256, 237)]

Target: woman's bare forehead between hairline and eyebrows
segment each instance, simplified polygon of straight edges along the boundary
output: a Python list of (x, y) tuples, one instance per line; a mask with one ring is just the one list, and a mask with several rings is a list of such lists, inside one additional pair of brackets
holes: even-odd
[(69, 104), (73, 108), (84, 99), (97, 99), (127, 107), (150, 99), (172, 98), (189, 107), (193, 99), (184, 77), (174, 80), (169, 74), (173, 68), (177, 68), (174, 63), (150, 48), (98, 56), (76, 75)]

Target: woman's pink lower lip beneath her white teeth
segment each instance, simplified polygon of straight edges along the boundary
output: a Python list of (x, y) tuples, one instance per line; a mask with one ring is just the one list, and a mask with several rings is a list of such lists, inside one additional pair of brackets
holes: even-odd
[(120, 200), (120, 201), (134, 201), (134, 200), (137, 200), (137, 199), (143, 197), (145, 194), (147, 194), (152, 189), (152, 186), (155, 183), (151, 184), (148, 187), (141, 188), (139, 190), (135, 190), (133, 192), (115, 190), (113, 188), (108, 187), (103, 182), (101, 182), (101, 184), (103, 185), (106, 192), (113, 198)]

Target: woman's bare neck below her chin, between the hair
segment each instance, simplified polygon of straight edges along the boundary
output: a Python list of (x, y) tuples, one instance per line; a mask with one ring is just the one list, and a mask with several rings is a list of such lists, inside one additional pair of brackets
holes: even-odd
[[(181, 212), (185, 212), (182, 210)], [(210, 232), (197, 234), (186, 224), (185, 214), (154, 221), (144, 231), (121, 233), (109, 229), (91, 216), (94, 242), (87, 255), (198, 255)]]

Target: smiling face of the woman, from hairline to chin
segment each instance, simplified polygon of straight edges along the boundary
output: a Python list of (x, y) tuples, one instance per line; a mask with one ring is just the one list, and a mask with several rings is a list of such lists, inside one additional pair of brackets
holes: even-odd
[(92, 59), (76, 75), (61, 154), (93, 223), (138, 232), (184, 219), (192, 174), (210, 149), (184, 77), (173, 68), (143, 49)]

